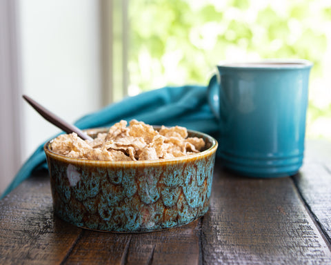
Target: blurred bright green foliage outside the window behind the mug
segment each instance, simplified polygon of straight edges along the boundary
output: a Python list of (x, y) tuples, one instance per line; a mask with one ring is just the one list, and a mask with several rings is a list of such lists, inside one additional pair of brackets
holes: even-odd
[[(330, 81), (323, 76), (331, 53), (331, 7), (327, 2), (132, 0), (130, 88), (137, 92), (207, 84), (214, 66), (222, 60), (308, 59), (314, 63), (310, 87), (315, 79), (325, 79), (324, 84), (317, 84), (325, 86), (319, 87), (319, 95), (310, 90), (308, 125), (320, 117), (331, 122)], [(323, 106), (320, 97), (324, 97)]]

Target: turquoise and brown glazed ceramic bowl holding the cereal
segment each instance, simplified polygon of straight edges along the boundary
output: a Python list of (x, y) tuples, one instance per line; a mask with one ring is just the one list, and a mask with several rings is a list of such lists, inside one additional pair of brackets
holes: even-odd
[[(106, 129), (87, 130), (92, 137)], [(150, 232), (188, 224), (209, 207), (217, 141), (201, 137), (201, 153), (153, 161), (92, 161), (44, 150), (54, 213), (92, 230)]]

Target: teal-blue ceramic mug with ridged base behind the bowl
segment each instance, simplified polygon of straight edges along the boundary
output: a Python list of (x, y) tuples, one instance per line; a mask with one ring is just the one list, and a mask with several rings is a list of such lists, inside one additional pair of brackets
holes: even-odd
[(223, 63), (208, 100), (219, 121), (218, 155), (250, 177), (285, 177), (303, 161), (308, 79), (306, 60)]

